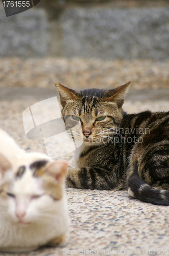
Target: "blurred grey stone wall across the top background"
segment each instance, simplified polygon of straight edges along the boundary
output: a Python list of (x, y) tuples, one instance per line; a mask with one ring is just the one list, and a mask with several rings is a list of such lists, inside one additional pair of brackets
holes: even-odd
[(0, 4), (0, 56), (169, 57), (169, 1), (41, 0), (6, 17)]

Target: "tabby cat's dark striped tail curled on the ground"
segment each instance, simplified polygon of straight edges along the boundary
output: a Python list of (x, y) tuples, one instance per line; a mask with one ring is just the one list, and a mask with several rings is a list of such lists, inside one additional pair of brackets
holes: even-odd
[(128, 179), (128, 195), (147, 203), (169, 205), (169, 190), (156, 189), (146, 184), (138, 175), (137, 162)]

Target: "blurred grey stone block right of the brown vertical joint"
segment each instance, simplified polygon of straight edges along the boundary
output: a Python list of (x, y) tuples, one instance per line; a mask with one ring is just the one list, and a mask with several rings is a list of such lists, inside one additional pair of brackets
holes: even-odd
[(59, 21), (62, 56), (169, 57), (169, 8), (72, 8)]

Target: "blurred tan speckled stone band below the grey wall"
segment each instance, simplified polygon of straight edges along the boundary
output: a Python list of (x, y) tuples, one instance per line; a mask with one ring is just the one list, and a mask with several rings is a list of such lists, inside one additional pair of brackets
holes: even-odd
[(169, 60), (97, 58), (0, 58), (0, 88), (66, 87), (109, 89), (132, 81), (132, 89), (168, 88)]

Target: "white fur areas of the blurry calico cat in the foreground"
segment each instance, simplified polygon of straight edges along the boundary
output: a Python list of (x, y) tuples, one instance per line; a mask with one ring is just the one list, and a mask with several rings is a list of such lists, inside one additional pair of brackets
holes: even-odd
[[(45, 194), (42, 180), (33, 177), (33, 171), (29, 168), (32, 162), (48, 160), (48, 157), (39, 153), (26, 153), (1, 129), (0, 153), (7, 157), (12, 166), (2, 174), (0, 191), (3, 184), (8, 182), (10, 186), (4, 188), (5, 193), (15, 195), (4, 198), (0, 193), (0, 251), (35, 250), (63, 235), (66, 243), (70, 220), (64, 184), (63, 197), (54, 200)], [(14, 180), (14, 174), (22, 165), (26, 167), (23, 177)]]

